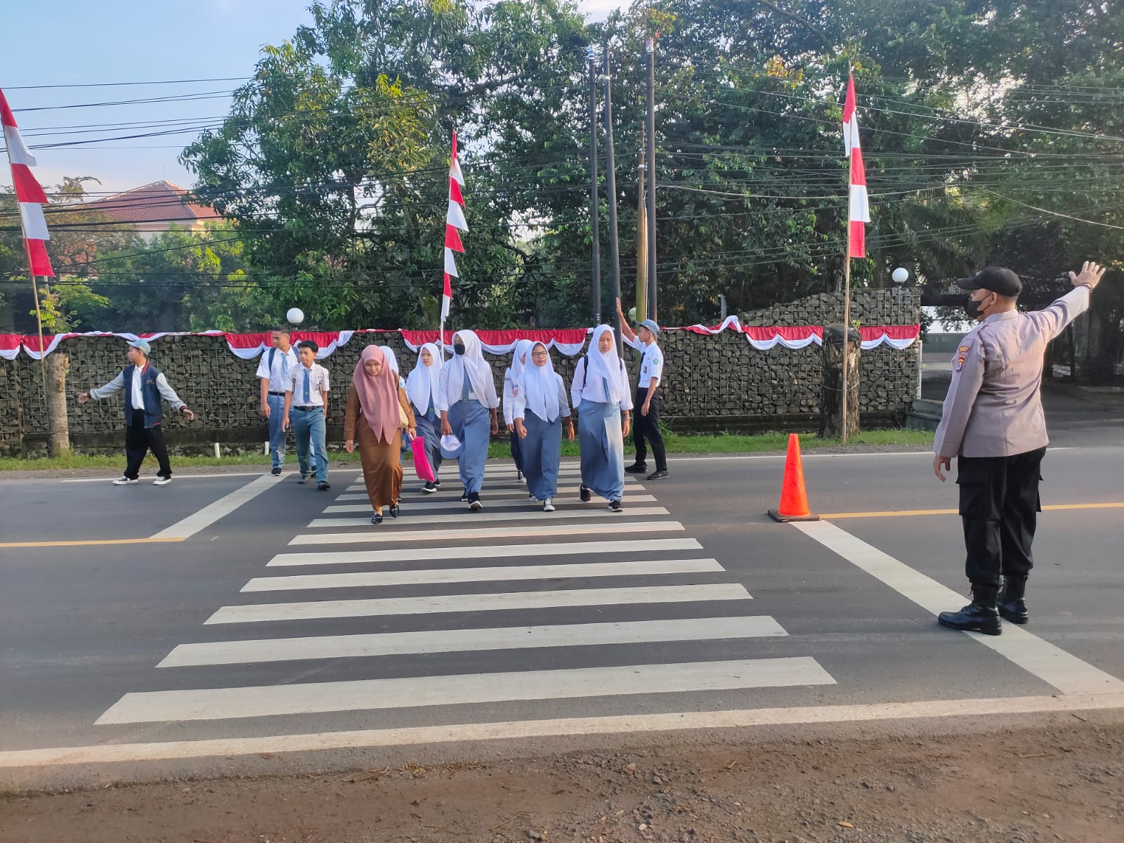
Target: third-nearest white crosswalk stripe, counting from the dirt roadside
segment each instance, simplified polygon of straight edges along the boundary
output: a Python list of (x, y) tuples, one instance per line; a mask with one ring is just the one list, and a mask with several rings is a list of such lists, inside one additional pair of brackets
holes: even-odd
[(443, 611), (507, 611), (572, 606), (701, 602), (750, 600), (750, 592), (735, 582), (710, 586), (646, 586), (635, 588), (578, 588), (561, 591), (507, 591), (490, 595), (432, 595), (383, 597), (371, 600), (314, 600), (224, 606), (206, 624), (260, 624), (272, 620), (432, 615)]

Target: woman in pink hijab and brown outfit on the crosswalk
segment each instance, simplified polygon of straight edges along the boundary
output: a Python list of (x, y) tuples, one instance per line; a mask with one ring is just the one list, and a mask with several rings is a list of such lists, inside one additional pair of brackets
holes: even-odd
[(363, 482), (374, 515), (371, 524), (382, 524), (382, 508), (390, 507), (390, 517), (398, 517), (398, 500), (402, 493), (402, 418), (406, 435), (414, 438), (416, 422), (398, 375), (375, 345), (363, 350), (352, 383), (347, 387), (347, 414), (344, 417), (344, 447), (347, 453), (359, 443)]

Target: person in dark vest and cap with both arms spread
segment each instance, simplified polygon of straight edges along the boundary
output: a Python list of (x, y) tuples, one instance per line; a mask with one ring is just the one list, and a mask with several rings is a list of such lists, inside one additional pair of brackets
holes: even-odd
[(129, 343), (128, 357), (130, 365), (126, 366), (114, 380), (99, 389), (91, 389), (78, 397), (79, 404), (90, 399), (100, 401), (117, 392), (125, 392), (125, 474), (114, 481), (114, 486), (127, 486), (138, 482), (140, 463), (152, 451), (160, 464), (160, 473), (153, 486), (167, 486), (172, 482), (172, 466), (167, 462), (167, 445), (161, 423), (164, 410), (161, 398), (172, 405), (172, 409), (182, 413), (189, 422), (196, 414), (167, 386), (164, 373), (148, 362), (152, 347), (145, 339)]

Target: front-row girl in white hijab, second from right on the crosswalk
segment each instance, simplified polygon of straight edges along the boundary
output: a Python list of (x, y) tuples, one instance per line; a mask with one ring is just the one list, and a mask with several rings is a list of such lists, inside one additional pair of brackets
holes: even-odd
[(562, 375), (554, 371), (551, 354), (542, 343), (531, 346), (531, 362), (516, 382), (513, 417), (523, 446), (523, 473), (532, 500), (543, 501), (543, 511), (554, 511), (559, 464), (562, 461), (562, 419), (573, 442), (573, 419)]

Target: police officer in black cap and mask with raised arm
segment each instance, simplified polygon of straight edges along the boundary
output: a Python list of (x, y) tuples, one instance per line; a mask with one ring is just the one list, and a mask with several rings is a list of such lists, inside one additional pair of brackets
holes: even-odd
[(944, 626), (999, 635), (1000, 616), (1014, 624), (1030, 619), (1024, 595), (1048, 442), (1041, 396), (1046, 343), (1089, 307), (1104, 273), (1087, 261), (1080, 273), (1069, 273), (1070, 292), (1034, 312), (1018, 311), (1023, 283), (1010, 270), (987, 266), (957, 282), (971, 291), (966, 309), (979, 324), (953, 359), (933, 472), (944, 482), (942, 469), (957, 457), (972, 601), (942, 611)]

